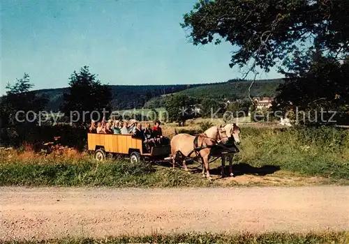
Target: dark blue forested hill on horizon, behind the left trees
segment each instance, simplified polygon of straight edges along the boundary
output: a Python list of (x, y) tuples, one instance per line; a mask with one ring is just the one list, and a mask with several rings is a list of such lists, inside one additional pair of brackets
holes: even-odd
[[(184, 89), (190, 89), (203, 84), (189, 85), (144, 85), (144, 86), (110, 86), (113, 99), (111, 101), (113, 109), (133, 109), (141, 108), (144, 103), (151, 98), (156, 98), (163, 94), (177, 93)], [(68, 92), (68, 88), (42, 89), (33, 91), (40, 95), (46, 95), (48, 102), (46, 109), (57, 112), (63, 102), (63, 94)]]

